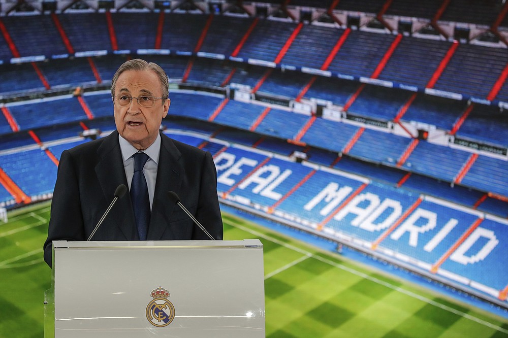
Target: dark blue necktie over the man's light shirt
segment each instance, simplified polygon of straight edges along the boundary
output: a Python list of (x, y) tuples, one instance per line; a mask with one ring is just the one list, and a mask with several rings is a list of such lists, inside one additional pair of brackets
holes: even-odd
[(148, 155), (145, 153), (134, 154), (134, 176), (131, 182), (131, 200), (141, 241), (146, 240), (148, 223), (150, 223), (150, 200), (145, 175), (143, 174), (143, 167), (147, 160)]

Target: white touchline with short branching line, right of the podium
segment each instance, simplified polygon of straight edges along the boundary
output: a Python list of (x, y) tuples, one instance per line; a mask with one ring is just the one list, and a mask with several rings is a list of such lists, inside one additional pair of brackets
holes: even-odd
[[(228, 223), (228, 222), (226, 222), (226, 221), (224, 221), (224, 222), (225, 222), (225, 223)], [(281, 241), (279, 241), (279, 240), (277, 240), (277, 239), (275, 239), (275, 238), (272, 238), (272, 237), (270, 237), (270, 236), (268, 236), (268, 235), (265, 235), (265, 234), (263, 234), (263, 233), (261, 233), (261, 232), (258, 232), (258, 231), (256, 231), (256, 230), (252, 230), (252, 229), (246, 228), (246, 227), (244, 227), (244, 226), (241, 226), (241, 225), (238, 225), (238, 224), (233, 224), (233, 223), (228, 223), (228, 225), (232, 225), (232, 226), (234, 226), (234, 227), (237, 227), (237, 228), (239, 228), (239, 229), (241, 229), (241, 230), (243, 230), (243, 231), (249, 232), (249, 233), (251, 233), (251, 234), (253, 234), (253, 235), (255, 235), (255, 236), (258, 236), (258, 237), (260, 237), (260, 238), (263, 238), (263, 239), (269, 240), (269, 241), (271, 241), (271, 242), (273, 242), (273, 243), (276, 243), (276, 244), (281, 245), (281, 246), (283, 246), (283, 247), (286, 247), (286, 248), (288, 248), (288, 249), (292, 249), (292, 250), (295, 250), (295, 251), (297, 251), (297, 252), (299, 252), (299, 253), (302, 253), (302, 254), (304, 254), (305, 256), (304, 256), (304, 257), (302, 257), (303, 259), (302, 259), (302, 258), (300, 258), (300, 260), (301, 260), (301, 261), (303, 261), (303, 260), (305, 260), (305, 259), (307, 259), (307, 258), (309, 258), (309, 257), (315, 258), (315, 259), (317, 259), (317, 260), (320, 260), (320, 261), (322, 261), (322, 262), (324, 262), (324, 263), (327, 263), (327, 264), (330, 264), (330, 265), (332, 265), (332, 266), (335, 266), (335, 267), (337, 267), (337, 268), (339, 268), (339, 269), (342, 269), (342, 270), (344, 270), (344, 271), (346, 271), (346, 272), (348, 272), (348, 273), (351, 273), (351, 274), (353, 274), (353, 275), (356, 275), (356, 276), (359, 276), (359, 277), (362, 277), (362, 278), (368, 279), (368, 280), (370, 280), (370, 281), (372, 281), (372, 282), (374, 282), (374, 283), (377, 283), (377, 284), (380, 284), (380, 285), (386, 286), (387, 288), (390, 288), (390, 289), (392, 289), (392, 290), (395, 290), (395, 291), (401, 292), (401, 293), (403, 293), (403, 294), (405, 294), (405, 295), (407, 295), (407, 296), (410, 296), (410, 297), (413, 297), (413, 298), (419, 299), (419, 300), (424, 301), (424, 302), (426, 302), (426, 303), (428, 303), (428, 304), (430, 304), (430, 305), (433, 305), (433, 306), (435, 306), (435, 307), (438, 307), (438, 308), (440, 308), (440, 309), (442, 309), (442, 310), (445, 310), (445, 311), (451, 312), (451, 313), (453, 313), (453, 314), (456, 314), (456, 315), (462, 316), (462, 317), (464, 317), (464, 318), (467, 318), (467, 319), (472, 320), (472, 321), (474, 321), (474, 322), (477, 322), (477, 323), (479, 323), (479, 324), (482, 324), (482, 325), (485, 325), (485, 326), (490, 327), (490, 328), (492, 328), (492, 329), (495, 329), (495, 330), (497, 330), (497, 331), (499, 331), (499, 332), (503, 332), (503, 333), (508, 334), (508, 330), (506, 330), (506, 329), (504, 329), (504, 328), (502, 328), (502, 327), (499, 327), (499, 326), (497, 326), (497, 325), (494, 325), (494, 324), (492, 324), (492, 323), (489, 323), (489, 322), (487, 322), (487, 321), (484, 321), (484, 320), (482, 320), (482, 319), (480, 319), (480, 318), (477, 318), (477, 317), (471, 316), (471, 315), (469, 315), (469, 314), (467, 314), (467, 313), (464, 313), (464, 312), (462, 312), (462, 311), (456, 310), (456, 309), (451, 308), (451, 307), (449, 307), (449, 306), (446, 306), (446, 305), (444, 305), (444, 304), (438, 303), (438, 302), (436, 302), (436, 301), (434, 301), (434, 300), (432, 300), (432, 299), (429, 299), (429, 298), (427, 298), (427, 297), (421, 296), (421, 295), (419, 295), (419, 294), (417, 294), (417, 293), (411, 292), (411, 291), (409, 291), (409, 290), (405, 290), (405, 289), (403, 289), (403, 288), (401, 288), (401, 287), (399, 287), (399, 286), (395, 286), (395, 285), (392, 285), (392, 284), (387, 283), (387, 282), (385, 282), (385, 281), (382, 281), (382, 280), (380, 280), (380, 279), (377, 279), (377, 278), (375, 278), (375, 277), (369, 276), (369, 275), (364, 274), (364, 273), (362, 273), (362, 272), (360, 272), (360, 271), (357, 271), (357, 270), (355, 270), (355, 269), (353, 269), (353, 268), (351, 268), (351, 267), (347, 267), (347, 266), (345, 266), (345, 265), (342, 265), (342, 264), (336, 263), (336, 262), (334, 262), (334, 261), (332, 261), (332, 260), (329, 260), (329, 259), (326, 259), (326, 258), (322, 258), (322, 257), (319, 257), (319, 256), (315, 256), (315, 255), (313, 255), (312, 253), (310, 253), (310, 252), (308, 252), (308, 251), (305, 251), (305, 250), (302, 250), (302, 249), (300, 249), (300, 248), (297, 248), (297, 247), (295, 247), (295, 246), (293, 246), (293, 245), (291, 245), (291, 244), (287, 244), (287, 243), (281, 242)], [(296, 261), (295, 261), (295, 262), (296, 262)], [(290, 263), (290, 264), (292, 264), (291, 266), (295, 265), (295, 264), (296, 264), (295, 262)], [(293, 264), (293, 263), (295, 263), (295, 264)], [(284, 269), (287, 269), (287, 268), (291, 267), (291, 266), (289, 266), (290, 264), (285, 265), (285, 266), (284, 266), (284, 267), (285, 267)], [(280, 269), (282, 269), (282, 268), (280, 268)], [(280, 271), (279, 271), (280, 269), (277, 269), (277, 270), (276, 270), (276, 271), (278, 271), (277, 273), (280, 273)], [(273, 275), (275, 275), (275, 274), (273, 274), (273, 272), (272, 272), (272, 273), (271, 273), (271, 275), (273, 276)], [(267, 275), (267, 276), (269, 276), (269, 275)], [(265, 276), (265, 280), (266, 280), (267, 278), (269, 278), (269, 277), (267, 277), (267, 276)], [(271, 277), (271, 276), (270, 276), (270, 277)]]

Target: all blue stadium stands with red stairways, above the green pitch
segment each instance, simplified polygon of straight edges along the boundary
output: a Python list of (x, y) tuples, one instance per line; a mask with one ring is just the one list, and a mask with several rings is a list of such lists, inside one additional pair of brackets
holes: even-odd
[(114, 129), (111, 78), (141, 57), (170, 80), (164, 132), (214, 155), (224, 204), (508, 307), (506, 46), (376, 28), (442, 35), (466, 0), (264, 3), (0, 16), (0, 205), (51, 197), (61, 152)]

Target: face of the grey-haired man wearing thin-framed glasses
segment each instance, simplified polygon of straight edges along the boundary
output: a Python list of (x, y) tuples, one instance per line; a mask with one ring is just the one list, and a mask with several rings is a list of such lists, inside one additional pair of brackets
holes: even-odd
[(153, 71), (125, 71), (115, 86), (114, 116), (120, 135), (138, 150), (148, 148), (157, 138), (162, 119), (168, 115), (170, 99), (154, 100), (152, 107), (142, 107), (133, 98), (126, 106), (119, 104), (122, 96), (162, 97), (161, 82)]

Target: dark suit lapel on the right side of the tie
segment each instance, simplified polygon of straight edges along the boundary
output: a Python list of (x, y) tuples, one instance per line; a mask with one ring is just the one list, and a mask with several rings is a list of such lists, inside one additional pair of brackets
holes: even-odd
[(148, 240), (157, 241), (162, 238), (167, 224), (171, 219), (175, 204), (169, 204), (168, 191), (178, 193), (184, 176), (183, 167), (179, 162), (180, 151), (173, 141), (161, 132), (161, 154), (157, 168), (157, 181), (153, 196), (152, 213), (148, 227)]

